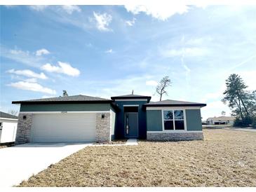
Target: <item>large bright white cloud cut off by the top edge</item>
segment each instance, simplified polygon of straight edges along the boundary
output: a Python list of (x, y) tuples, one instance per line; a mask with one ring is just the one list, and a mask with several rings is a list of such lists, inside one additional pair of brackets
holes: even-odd
[(128, 4), (125, 5), (125, 8), (128, 12), (131, 12), (135, 15), (139, 14), (140, 12), (144, 12), (147, 15), (151, 15), (153, 18), (156, 18), (158, 20), (167, 20), (176, 13), (186, 13), (189, 9), (189, 6), (182, 4), (173, 4), (171, 6), (166, 6), (166, 4), (156, 1), (154, 4), (147, 4), (144, 6)]

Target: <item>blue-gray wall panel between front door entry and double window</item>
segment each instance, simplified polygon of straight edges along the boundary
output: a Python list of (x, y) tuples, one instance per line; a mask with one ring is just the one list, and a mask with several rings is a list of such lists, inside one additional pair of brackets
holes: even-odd
[(147, 110), (147, 131), (162, 130), (162, 111)]

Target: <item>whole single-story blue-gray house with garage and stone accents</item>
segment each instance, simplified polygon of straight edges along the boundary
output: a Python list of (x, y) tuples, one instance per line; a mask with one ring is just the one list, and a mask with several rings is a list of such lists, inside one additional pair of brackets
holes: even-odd
[(15, 101), (20, 104), (16, 142), (109, 142), (111, 139), (203, 139), (206, 104), (122, 95), (86, 95)]

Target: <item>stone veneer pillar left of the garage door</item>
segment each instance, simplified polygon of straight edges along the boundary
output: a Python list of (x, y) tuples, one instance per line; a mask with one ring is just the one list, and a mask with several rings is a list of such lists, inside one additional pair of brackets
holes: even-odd
[[(23, 116), (27, 116), (27, 118), (23, 119)], [(32, 114), (19, 114), (15, 144), (25, 144), (30, 142), (31, 127)]]

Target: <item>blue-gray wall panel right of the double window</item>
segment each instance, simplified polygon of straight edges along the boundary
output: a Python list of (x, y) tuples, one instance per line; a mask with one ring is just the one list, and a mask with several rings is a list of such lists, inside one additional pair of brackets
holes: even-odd
[(186, 109), (187, 130), (202, 130), (200, 109)]

